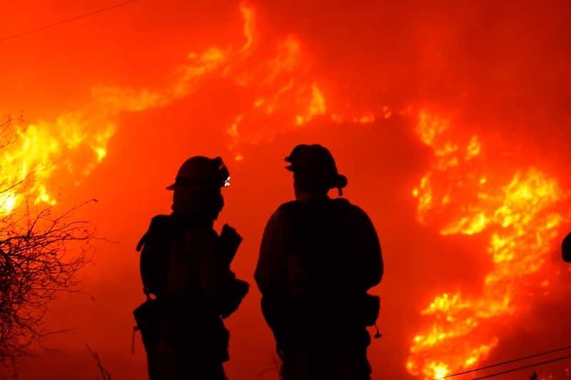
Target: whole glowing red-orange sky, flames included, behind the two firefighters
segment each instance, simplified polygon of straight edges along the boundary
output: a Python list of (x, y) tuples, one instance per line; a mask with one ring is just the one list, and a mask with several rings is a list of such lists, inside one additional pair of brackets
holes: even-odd
[[(47, 322), (71, 329), (22, 379), (143, 379), (134, 245), (195, 154), (222, 155), (234, 263), (252, 282), (261, 232), (293, 196), (283, 157), (328, 146), (345, 195), (370, 214), (386, 274), (373, 379), (423, 379), (571, 342), (568, 1), (139, 0), (0, 43), (0, 112), (23, 115), (3, 179), (41, 169), (39, 204), (96, 198), (86, 294)], [(112, 1), (2, 4), (0, 39)], [(1, 121), (1, 120), (0, 120)], [(567, 167), (566, 167), (567, 166)], [(7, 174), (6, 174), (7, 173)], [(11, 176), (10, 176), (11, 175)], [(0, 210), (21, 200), (0, 198)], [(343, 281), (343, 279), (339, 279)], [(252, 287), (228, 319), (231, 379), (276, 379)], [(563, 376), (565, 366), (542, 369)], [(41, 374), (41, 376), (39, 375)], [(561, 377), (560, 377), (561, 376)]]

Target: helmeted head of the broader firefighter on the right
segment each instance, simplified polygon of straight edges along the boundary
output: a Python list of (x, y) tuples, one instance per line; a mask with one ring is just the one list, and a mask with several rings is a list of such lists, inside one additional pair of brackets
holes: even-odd
[(293, 148), (285, 158), (290, 165), (285, 168), (293, 172), (295, 195), (325, 196), (328, 191), (337, 188), (339, 195), (347, 186), (347, 178), (340, 175), (335, 159), (329, 150), (321, 145), (300, 144)]

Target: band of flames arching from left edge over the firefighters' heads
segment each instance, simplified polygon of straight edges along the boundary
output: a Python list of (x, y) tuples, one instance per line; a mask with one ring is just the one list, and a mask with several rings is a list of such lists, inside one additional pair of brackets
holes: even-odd
[[(93, 100), (80, 111), (19, 128), (17, 143), (1, 152), (0, 184), (9, 188), (28, 178), (26, 196), (36, 203), (54, 203), (54, 195), (47, 191), (49, 178), (62, 169), (78, 180), (89, 175), (107, 155), (108, 140), (118, 128), (115, 120), (119, 113), (166, 106), (195, 92), (210, 78), (223, 78), (247, 89), (246, 97), (251, 96), (251, 106), (236, 115), (226, 128), (232, 149), (242, 142), (271, 140), (274, 135), (299, 128), (319, 116), (335, 123), (375, 121), (373, 112), (332, 110), (299, 38), (290, 34), (277, 41), (271, 53), (259, 51), (256, 9), (243, 2), (240, 12), (243, 45), (211, 46), (202, 52), (188, 53), (188, 61), (174, 70), (173, 80), (167, 86), (158, 90), (96, 86), (92, 90)], [(384, 106), (378, 114), (389, 118), (391, 112)], [(82, 158), (78, 165), (78, 155), (88, 158)], [(244, 157), (236, 152), (235, 159)], [(31, 173), (35, 173), (33, 178), (29, 177)], [(24, 194), (20, 189), (0, 192), (0, 212), (11, 212), (21, 205), (21, 195)]]

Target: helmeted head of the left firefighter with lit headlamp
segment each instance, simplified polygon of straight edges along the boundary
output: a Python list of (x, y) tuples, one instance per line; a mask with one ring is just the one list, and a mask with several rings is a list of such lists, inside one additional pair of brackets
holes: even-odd
[(216, 220), (224, 207), (222, 188), (228, 185), (230, 173), (222, 158), (200, 155), (186, 160), (178, 169), (173, 190), (173, 212), (206, 220)]

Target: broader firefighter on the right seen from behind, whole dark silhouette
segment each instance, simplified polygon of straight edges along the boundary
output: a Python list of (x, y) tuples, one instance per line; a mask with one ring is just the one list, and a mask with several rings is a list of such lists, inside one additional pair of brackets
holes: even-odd
[(295, 200), (271, 215), (255, 274), (281, 375), (370, 379), (366, 327), (376, 326), (380, 299), (367, 292), (383, 276), (375, 227), (359, 207), (328, 196), (347, 185), (329, 150), (298, 145), (285, 160)]

